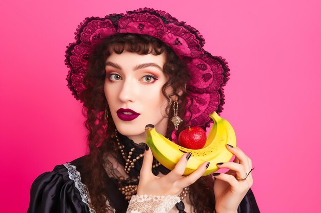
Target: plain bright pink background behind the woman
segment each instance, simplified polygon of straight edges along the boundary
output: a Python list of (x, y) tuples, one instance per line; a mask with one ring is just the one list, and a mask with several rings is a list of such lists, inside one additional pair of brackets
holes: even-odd
[(319, 211), (320, 1), (46, 2), (0, 3), (2, 212), (25, 212), (39, 174), (86, 153), (64, 65), (78, 23), (139, 7), (186, 21), (229, 62), (221, 115), (256, 168), (260, 210)]

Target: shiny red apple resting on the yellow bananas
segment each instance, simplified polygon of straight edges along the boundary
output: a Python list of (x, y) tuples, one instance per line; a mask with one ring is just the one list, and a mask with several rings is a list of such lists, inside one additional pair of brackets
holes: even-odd
[(188, 127), (179, 133), (179, 146), (188, 149), (202, 149), (206, 143), (206, 132), (200, 127)]

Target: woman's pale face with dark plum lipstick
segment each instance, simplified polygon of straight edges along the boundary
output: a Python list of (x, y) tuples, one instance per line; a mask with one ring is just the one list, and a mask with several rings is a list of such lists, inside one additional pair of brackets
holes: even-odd
[(145, 141), (145, 126), (155, 125), (165, 135), (168, 118), (167, 99), (162, 87), (164, 53), (158, 56), (138, 55), (124, 51), (112, 53), (106, 60), (104, 91), (117, 131), (134, 140)]

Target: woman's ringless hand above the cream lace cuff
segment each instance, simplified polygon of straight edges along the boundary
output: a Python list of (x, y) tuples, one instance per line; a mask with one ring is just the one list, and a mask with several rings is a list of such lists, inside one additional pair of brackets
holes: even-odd
[(183, 188), (194, 183), (204, 174), (208, 162), (200, 164), (192, 174), (183, 176), (188, 161), (187, 156), (188, 153), (184, 153), (171, 172), (163, 177), (157, 177), (152, 173), (153, 154), (146, 145), (137, 195), (178, 195)]

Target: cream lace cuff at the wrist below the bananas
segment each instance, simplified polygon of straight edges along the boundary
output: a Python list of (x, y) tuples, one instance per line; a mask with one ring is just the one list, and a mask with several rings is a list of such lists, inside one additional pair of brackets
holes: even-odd
[(177, 196), (134, 195), (126, 213), (167, 213), (180, 199)]

